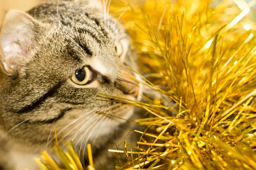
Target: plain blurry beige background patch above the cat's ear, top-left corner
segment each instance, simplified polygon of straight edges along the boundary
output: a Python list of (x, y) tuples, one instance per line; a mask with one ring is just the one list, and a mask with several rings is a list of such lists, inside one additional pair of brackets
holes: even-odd
[(5, 13), (10, 9), (27, 11), (39, 2), (40, 0), (0, 0), (0, 25), (2, 25)]

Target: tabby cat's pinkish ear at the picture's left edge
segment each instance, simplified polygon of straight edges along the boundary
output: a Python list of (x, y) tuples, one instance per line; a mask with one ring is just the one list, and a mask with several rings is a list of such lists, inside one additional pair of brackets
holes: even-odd
[(11, 10), (4, 19), (0, 33), (1, 62), (7, 73), (16, 71), (20, 62), (34, 49), (37, 22), (29, 14)]

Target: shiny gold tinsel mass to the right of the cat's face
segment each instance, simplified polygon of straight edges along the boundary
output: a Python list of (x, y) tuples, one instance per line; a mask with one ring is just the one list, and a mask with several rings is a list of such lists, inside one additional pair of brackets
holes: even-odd
[(112, 0), (144, 73), (148, 104), (135, 105), (150, 115), (138, 146), (110, 150), (127, 156), (116, 169), (255, 169), (255, 4)]

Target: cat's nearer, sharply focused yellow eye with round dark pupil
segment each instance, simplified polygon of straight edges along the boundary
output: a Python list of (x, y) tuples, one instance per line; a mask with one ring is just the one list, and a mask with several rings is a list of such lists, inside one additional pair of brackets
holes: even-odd
[(88, 84), (88, 82), (90, 82), (91, 80), (91, 71), (88, 68), (88, 66), (85, 66), (79, 69), (78, 71), (76, 71), (76, 73), (72, 75), (71, 80), (75, 84), (79, 84), (79, 85)]

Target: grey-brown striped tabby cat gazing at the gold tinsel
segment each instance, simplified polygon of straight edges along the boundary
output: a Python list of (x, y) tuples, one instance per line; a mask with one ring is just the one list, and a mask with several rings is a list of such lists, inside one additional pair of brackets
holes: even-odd
[(28, 13), (7, 13), (0, 35), (4, 170), (35, 169), (34, 157), (54, 146), (55, 128), (66, 141), (74, 141), (81, 157), (88, 143), (95, 152), (101, 150), (104, 154), (99, 152), (95, 160), (98, 170), (114, 165), (106, 147), (113, 143), (115, 148), (113, 138), (125, 121), (96, 111), (128, 119), (133, 107), (97, 94), (135, 100), (139, 85), (119, 75), (135, 77), (126, 66), (136, 69), (129, 36), (97, 5), (49, 0)]

